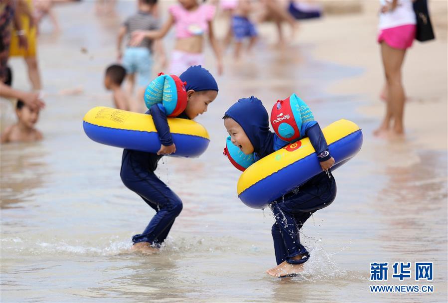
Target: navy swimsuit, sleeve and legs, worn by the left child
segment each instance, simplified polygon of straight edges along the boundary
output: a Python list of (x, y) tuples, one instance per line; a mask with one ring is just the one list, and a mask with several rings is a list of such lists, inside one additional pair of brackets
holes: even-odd
[[(152, 116), (162, 145), (173, 144), (163, 106), (153, 105), (147, 114)], [(177, 118), (189, 119), (185, 113)], [(120, 172), (123, 183), (141, 196), (156, 212), (143, 233), (132, 237), (134, 244), (149, 242), (159, 246), (166, 239), (174, 220), (182, 210), (180, 198), (154, 174), (161, 157), (149, 152), (128, 149), (123, 151)]]

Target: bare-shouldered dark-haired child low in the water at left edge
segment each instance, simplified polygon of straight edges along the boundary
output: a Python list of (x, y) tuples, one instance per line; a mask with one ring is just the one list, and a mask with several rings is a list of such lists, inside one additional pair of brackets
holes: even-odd
[(1, 135), (1, 143), (33, 142), (42, 140), (42, 134), (34, 128), (39, 119), (39, 108), (31, 108), (17, 100), (15, 108), (17, 123), (8, 127)]

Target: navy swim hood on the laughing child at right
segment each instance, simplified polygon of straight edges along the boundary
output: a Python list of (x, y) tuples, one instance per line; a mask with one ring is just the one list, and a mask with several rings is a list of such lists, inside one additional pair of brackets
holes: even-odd
[(269, 115), (260, 99), (254, 96), (242, 98), (232, 105), (225, 115), (243, 128), (254, 151), (260, 157), (274, 152), (272, 141), (274, 134), (269, 130)]

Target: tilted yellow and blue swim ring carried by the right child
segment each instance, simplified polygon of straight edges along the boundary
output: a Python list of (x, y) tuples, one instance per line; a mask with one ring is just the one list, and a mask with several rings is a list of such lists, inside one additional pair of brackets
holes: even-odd
[[(362, 131), (341, 119), (322, 130), (335, 162), (331, 170), (347, 162), (362, 146)], [(317, 155), (308, 138), (290, 143), (250, 165), (238, 180), (237, 192), (249, 207), (262, 209), (320, 173)]]

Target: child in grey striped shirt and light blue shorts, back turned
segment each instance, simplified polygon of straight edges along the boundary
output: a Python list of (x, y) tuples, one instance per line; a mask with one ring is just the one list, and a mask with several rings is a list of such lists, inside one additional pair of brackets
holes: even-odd
[[(131, 111), (140, 112), (143, 103), (145, 89), (151, 80), (152, 70), (152, 46), (159, 53), (160, 61), (165, 61), (163, 46), (161, 41), (153, 41), (151, 38), (144, 38), (139, 43), (130, 45), (128, 42), (123, 54), (121, 45), (125, 35), (130, 38), (131, 33), (136, 30), (154, 30), (159, 28), (158, 19), (154, 17), (153, 12), (156, 8), (157, 0), (139, 0), (138, 11), (136, 14), (128, 17), (118, 33), (117, 52), (118, 59), (123, 60), (123, 66), (128, 73), (129, 94), (132, 96), (136, 83), (137, 74), (137, 103), (131, 107)], [(128, 39), (129, 40), (129, 39)], [(156, 45), (158, 43), (158, 45)], [(162, 65), (164, 65), (162, 63)]]

